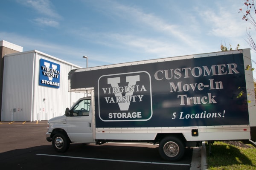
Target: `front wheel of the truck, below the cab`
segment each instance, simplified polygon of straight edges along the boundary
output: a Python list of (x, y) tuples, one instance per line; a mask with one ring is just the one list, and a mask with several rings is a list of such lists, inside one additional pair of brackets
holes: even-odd
[(56, 133), (52, 138), (52, 146), (57, 152), (66, 152), (70, 147), (70, 140), (66, 134)]

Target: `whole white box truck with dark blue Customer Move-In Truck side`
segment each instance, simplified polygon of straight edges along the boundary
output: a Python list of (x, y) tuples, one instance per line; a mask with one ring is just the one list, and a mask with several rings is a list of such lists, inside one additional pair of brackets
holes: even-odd
[(255, 142), (247, 65), (250, 49), (72, 70), (69, 91), (89, 95), (48, 121), (47, 141), (58, 152), (71, 142), (150, 142), (169, 161), (203, 141)]

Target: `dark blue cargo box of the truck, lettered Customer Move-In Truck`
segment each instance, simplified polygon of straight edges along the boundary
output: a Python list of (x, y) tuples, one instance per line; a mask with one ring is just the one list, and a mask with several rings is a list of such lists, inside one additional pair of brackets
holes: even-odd
[[(254, 89), (248, 85), (253, 82), (251, 71), (245, 73), (250, 52), (244, 57), (244, 51), (74, 70), (68, 78), (70, 91), (94, 88), (97, 131), (111, 133), (120, 128), (120, 133), (130, 133), (130, 128), (144, 128), (155, 134), (161, 127), (165, 133), (188, 130), (191, 136), (193, 128), (202, 133), (226, 129), (224, 136), (199, 133), (190, 140), (225, 140), (233, 131), (241, 135), (231, 139), (250, 138), (249, 110), (255, 106), (248, 109), (246, 93), (237, 98), (241, 90)], [(251, 80), (246, 81), (246, 76)], [(253, 94), (250, 105), (255, 103)]]

